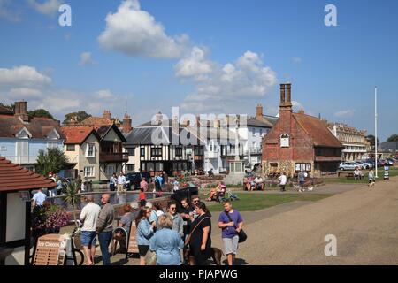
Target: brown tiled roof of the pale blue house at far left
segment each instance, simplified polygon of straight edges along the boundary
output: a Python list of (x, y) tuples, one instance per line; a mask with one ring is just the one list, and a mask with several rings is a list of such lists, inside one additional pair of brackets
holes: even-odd
[(65, 139), (61, 127), (57, 121), (50, 118), (34, 117), (29, 122), (23, 122), (19, 117), (13, 115), (0, 115), (0, 137), (13, 138), (24, 127), (32, 134), (33, 139), (46, 139), (54, 129)]

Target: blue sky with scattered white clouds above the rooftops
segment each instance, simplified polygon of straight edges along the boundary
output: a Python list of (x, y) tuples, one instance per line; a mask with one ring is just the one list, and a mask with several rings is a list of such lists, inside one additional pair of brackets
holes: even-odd
[[(61, 2), (72, 27), (58, 25)], [(137, 125), (172, 106), (254, 115), (262, 103), (274, 115), (290, 81), (296, 109), (373, 134), (377, 85), (383, 141), (398, 133), (396, 11), (394, 0), (0, 0), (0, 101), (57, 119), (127, 109)]]

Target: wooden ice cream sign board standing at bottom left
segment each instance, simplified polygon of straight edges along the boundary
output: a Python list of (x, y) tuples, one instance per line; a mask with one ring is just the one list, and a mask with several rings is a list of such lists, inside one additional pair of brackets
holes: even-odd
[(50, 233), (37, 240), (34, 251), (34, 265), (64, 265), (67, 238)]

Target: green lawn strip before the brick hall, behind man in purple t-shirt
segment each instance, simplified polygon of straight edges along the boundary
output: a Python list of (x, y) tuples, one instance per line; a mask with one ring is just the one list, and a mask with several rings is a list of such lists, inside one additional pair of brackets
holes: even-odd
[[(240, 194), (239, 201), (233, 201), (233, 207), (240, 211), (263, 210), (282, 203), (291, 203), (295, 201), (317, 202), (330, 194)], [(211, 204), (210, 211), (222, 211), (222, 203)]]

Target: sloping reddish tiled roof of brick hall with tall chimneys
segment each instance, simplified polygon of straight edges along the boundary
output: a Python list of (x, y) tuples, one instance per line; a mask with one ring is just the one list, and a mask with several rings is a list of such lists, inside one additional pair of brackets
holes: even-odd
[(327, 124), (322, 120), (303, 113), (292, 114), (302, 129), (310, 135), (314, 146), (343, 148), (341, 142), (327, 128)]

